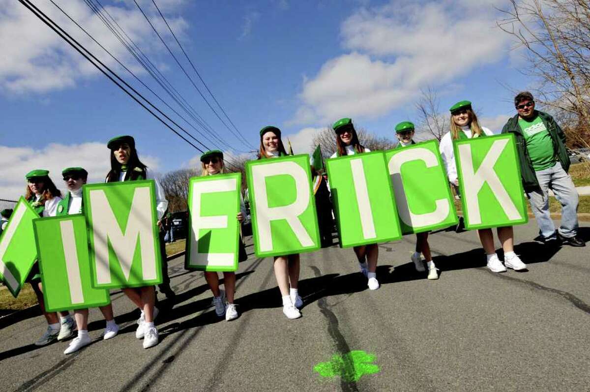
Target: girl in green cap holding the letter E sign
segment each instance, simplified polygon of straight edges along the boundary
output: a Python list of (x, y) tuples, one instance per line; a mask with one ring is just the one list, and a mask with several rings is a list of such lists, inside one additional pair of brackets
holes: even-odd
[[(219, 150), (207, 151), (201, 155), (202, 176), (224, 174), (225, 165), (223, 163), (223, 153)], [(242, 222), (246, 216), (246, 207), (244, 200), (240, 197), (240, 212), (237, 215), (238, 221)], [(244, 243), (240, 240), (240, 254), (245, 254)], [(243, 251), (243, 253), (242, 253)], [(224, 286), (225, 293), (219, 289), (219, 276), (217, 272), (205, 271), (205, 280), (213, 293), (213, 303), (215, 305), (215, 313), (218, 316), (225, 314), (225, 320), (230, 321), (238, 317), (238, 311), (235, 309), (234, 293), (235, 293), (235, 272), (224, 272)], [(227, 297), (226, 297), (227, 296)], [(227, 302), (225, 301), (227, 298)]]

